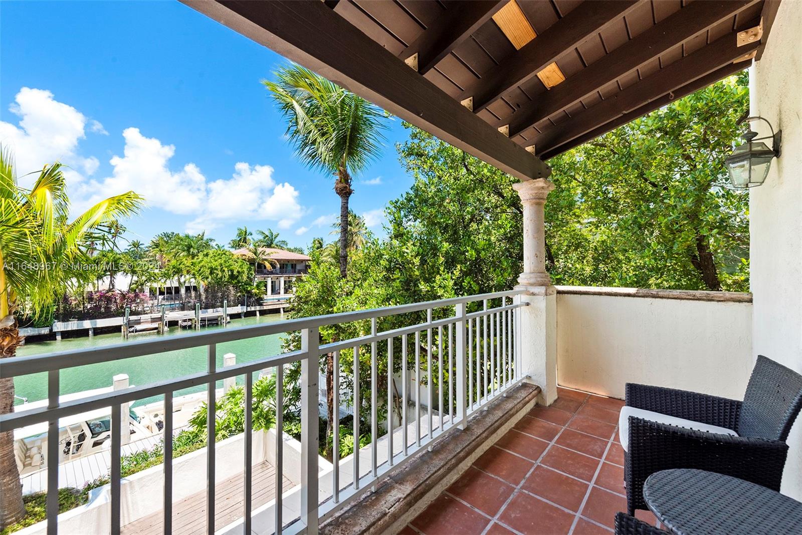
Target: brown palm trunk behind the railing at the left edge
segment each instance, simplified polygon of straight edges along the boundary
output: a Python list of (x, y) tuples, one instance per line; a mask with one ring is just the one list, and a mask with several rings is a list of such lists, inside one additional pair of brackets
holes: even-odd
[[(2, 270), (0, 270), (2, 274)], [(13, 357), (22, 342), (19, 326), (13, 314), (0, 318), (0, 359)], [(0, 414), (14, 411), (14, 378), (0, 379)], [(17, 456), (14, 455), (14, 432), (0, 433), (0, 529), (25, 516), (22, 503), (22, 483), (19, 480)]]

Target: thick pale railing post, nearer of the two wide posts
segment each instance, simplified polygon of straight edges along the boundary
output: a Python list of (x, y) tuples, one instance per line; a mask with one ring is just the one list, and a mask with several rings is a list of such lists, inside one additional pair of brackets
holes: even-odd
[(318, 533), (319, 344), (318, 327), (301, 331), (301, 521), (309, 535)]

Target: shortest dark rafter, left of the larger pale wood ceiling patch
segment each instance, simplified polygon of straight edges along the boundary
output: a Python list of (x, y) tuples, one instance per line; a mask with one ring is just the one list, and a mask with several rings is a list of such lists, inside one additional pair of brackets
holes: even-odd
[(425, 75), (441, 59), (488, 22), (507, 0), (457, 0), (448, 4), (444, 16), (424, 30), (399, 58), (406, 61), (418, 55), (418, 72)]

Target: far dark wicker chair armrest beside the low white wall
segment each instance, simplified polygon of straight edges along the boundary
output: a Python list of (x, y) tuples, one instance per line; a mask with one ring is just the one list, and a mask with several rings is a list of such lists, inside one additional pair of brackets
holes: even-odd
[(727, 429), (735, 429), (741, 410), (736, 399), (637, 383), (626, 383), (626, 404)]

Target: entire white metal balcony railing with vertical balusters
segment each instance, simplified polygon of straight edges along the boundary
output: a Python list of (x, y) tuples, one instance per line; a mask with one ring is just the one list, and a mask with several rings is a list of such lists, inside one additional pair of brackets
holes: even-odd
[[(244, 505), (242, 510), (244, 533), (252, 533), (252, 383), (253, 374), (275, 368), (276, 419), (277, 428), (282, 428), (284, 412), (283, 375), (288, 364), (301, 363), (301, 513), (300, 521), (286, 527), (282, 519), (282, 433), (276, 433), (276, 503), (273, 507), (274, 525), (277, 533), (303, 533), (309, 529), (317, 533), (318, 522), (330, 517), (338, 509), (352, 501), (358, 491), (366, 488), (379, 477), (399, 468), (408, 459), (427, 448), (433, 440), (439, 438), (452, 428), (465, 428), (468, 416), (483, 407), (490, 399), (495, 398), (509, 387), (520, 382), (519, 349), (516, 348), (516, 324), (520, 321), (516, 312), (525, 306), (517, 298), (520, 292), (506, 291), (495, 294), (481, 294), (464, 298), (452, 298), (441, 301), (421, 302), (410, 305), (391, 306), (375, 310), (363, 310), (346, 314), (330, 314), (314, 318), (293, 319), (286, 322), (274, 322), (257, 326), (234, 327), (213, 332), (187, 334), (171, 338), (156, 338), (136, 342), (126, 342), (114, 346), (99, 347), (81, 351), (63, 351), (50, 355), (31, 357), (15, 357), (3, 359), (0, 377), (15, 377), (38, 372), (47, 372), (48, 405), (26, 411), (18, 411), (0, 416), (0, 432), (9, 432), (31, 424), (47, 422), (48, 441), (47, 459), (59, 459), (59, 419), (77, 415), (102, 407), (111, 407), (111, 533), (119, 533), (121, 528), (120, 504), (120, 447), (121, 447), (121, 412), (123, 407), (137, 399), (154, 395), (164, 396), (164, 533), (172, 531), (172, 398), (175, 391), (197, 385), (207, 385), (209, 399), (209, 417), (207, 419), (208, 436), (215, 436), (217, 381), (244, 376), (245, 378), (245, 464), (244, 464)], [(512, 298), (512, 299), (511, 299)], [(498, 306), (493, 306), (498, 303)], [(437, 316), (446, 317), (434, 319)], [(446, 312), (444, 312), (444, 310)], [(468, 312), (468, 310), (475, 310)], [(425, 311), (426, 320), (412, 325), (379, 331), (379, 318), (403, 316), (418, 313), (422, 317)], [(453, 311), (453, 314), (452, 314)], [(371, 334), (359, 338), (319, 344), (319, 330), (325, 326), (370, 320)], [(397, 322), (396, 322), (397, 324)], [(217, 345), (244, 338), (261, 337), (268, 334), (297, 332), (301, 333), (301, 349), (237, 363), (229, 367), (218, 368), (216, 364)], [(412, 343), (414, 341), (414, 344)], [(399, 345), (396, 345), (400, 342)], [(386, 347), (387, 378), (379, 375), (379, 343)], [(386, 344), (386, 346), (385, 346)], [(207, 370), (176, 379), (168, 379), (158, 383), (149, 383), (128, 387), (123, 390), (110, 391), (99, 395), (90, 395), (81, 399), (73, 399), (59, 403), (59, 372), (69, 367), (86, 366), (95, 363), (106, 363), (119, 359), (130, 359), (143, 355), (153, 355), (165, 351), (175, 351), (190, 347), (207, 347)], [(400, 351), (399, 351), (400, 350)], [(353, 355), (353, 376), (350, 383), (354, 385), (347, 391), (341, 389), (342, 379), (341, 353)], [(318, 374), (320, 372), (319, 357), (333, 355), (334, 359), (334, 407), (340, 407), (341, 393), (353, 396), (351, 407), (354, 411), (354, 440), (358, 444), (360, 436), (358, 424), (359, 413), (367, 405), (368, 394), (359, 392), (358, 358), (361, 351), (371, 351), (371, 444), (370, 470), (359, 469), (359, 457), (352, 456), (350, 472), (352, 480), (340, 480), (341, 460), (339, 459), (339, 411), (334, 411), (334, 463), (331, 473), (330, 492), (318, 492), (318, 415), (321, 399), (318, 391)], [(414, 355), (410, 354), (410, 351)], [(394, 359), (399, 358), (400, 366), (394, 367)], [(436, 364), (435, 364), (436, 363)], [(394, 370), (400, 368), (403, 387), (398, 398), (394, 395)], [(411, 368), (411, 369), (410, 369)], [(423, 377), (429, 372), (437, 374), (435, 391), (434, 381)], [(407, 378), (414, 380), (414, 395), (408, 388)], [(386, 422), (378, 419), (379, 382), (387, 384), (387, 407), (393, 407), (400, 401), (401, 414), (395, 415), (399, 425), (395, 424), (393, 411), (388, 411)], [(421, 393), (425, 383), (425, 396)], [(436, 396), (436, 399), (435, 399)], [(409, 398), (413, 399), (409, 399)], [(425, 397), (425, 399), (421, 399)], [(423, 415), (422, 407), (426, 407)], [(435, 416), (432, 407), (437, 407)], [(422, 424), (425, 428), (422, 429)], [(386, 426), (387, 457), (379, 462), (380, 425)], [(394, 448), (394, 431), (396, 436), (400, 428), (400, 448)], [(397, 440), (397, 438), (396, 438)], [(206, 525), (208, 533), (214, 533), (215, 517), (215, 444), (208, 442), (206, 467)], [(363, 448), (364, 450), (365, 448)], [(367, 468), (367, 467), (363, 467)], [(47, 471), (47, 533), (57, 533), (58, 527), (58, 463), (49, 463)], [(319, 496), (322, 496), (320, 498)]]

